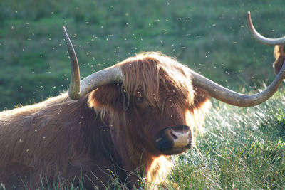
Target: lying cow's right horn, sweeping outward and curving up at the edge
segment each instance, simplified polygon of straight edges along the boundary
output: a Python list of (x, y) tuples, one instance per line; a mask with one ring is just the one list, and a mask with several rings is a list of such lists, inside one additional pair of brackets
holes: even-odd
[(204, 76), (199, 75), (192, 70), (190, 70), (190, 74), (192, 75), (192, 84), (204, 88), (204, 90), (207, 90), (210, 96), (230, 105), (246, 107), (259, 105), (274, 95), (285, 77), (284, 70), (285, 64), (283, 64), (279, 74), (276, 76), (273, 82), (265, 90), (254, 95), (236, 93), (232, 90), (222, 87), (221, 85), (218, 85), (217, 83), (214, 83), (212, 80), (209, 80), (208, 78), (205, 78)]

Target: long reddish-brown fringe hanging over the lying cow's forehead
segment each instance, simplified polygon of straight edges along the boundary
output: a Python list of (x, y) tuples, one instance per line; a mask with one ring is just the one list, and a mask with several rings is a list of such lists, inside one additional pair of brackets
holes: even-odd
[(142, 90), (150, 104), (157, 107), (161, 93), (175, 93), (182, 101), (192, 103), (194, 93), (188, 68), (174, 58), (159, 52), (147, 52), (119, 64), (123, 86), (130, 97), (135, 97)]

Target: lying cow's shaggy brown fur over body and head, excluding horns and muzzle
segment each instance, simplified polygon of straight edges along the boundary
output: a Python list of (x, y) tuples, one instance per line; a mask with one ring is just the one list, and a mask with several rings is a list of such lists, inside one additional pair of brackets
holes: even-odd
[(6, 188), (58, 179), (78, 185), (81, 177), (88, 189), (103, 189), (115, 176), (129, 188), (138, 176), (153, 186), (165, 180), (171, 164), (155, 149), (154, 134), (201, 125), (207, 93), (192, 86), (185, 66), (161, 53), (141, 53), (118, 66), (123, 84), (101, 86), (81, 100), (65, 93), (0, 112), (0, 181)]

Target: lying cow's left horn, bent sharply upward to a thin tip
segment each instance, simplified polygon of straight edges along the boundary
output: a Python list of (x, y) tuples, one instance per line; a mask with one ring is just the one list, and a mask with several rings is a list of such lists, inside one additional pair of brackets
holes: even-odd
[(63, 34), (66, 40), (66, 45), (68, 47), (68, 53), (71, 58), (71, 84), (68, 90), (68, 95), (71, 97), (71, 99), (78, 100), (100, 85), (121, 83), (123, 81), (123, 75), (118, 66), (105, 68), (104, 70), (100, 70), (87, 76), (83, 80), (80, 80), (76, 52), (74, 51), (73, 45), (68, 37), (65, 27), (63, 27)]

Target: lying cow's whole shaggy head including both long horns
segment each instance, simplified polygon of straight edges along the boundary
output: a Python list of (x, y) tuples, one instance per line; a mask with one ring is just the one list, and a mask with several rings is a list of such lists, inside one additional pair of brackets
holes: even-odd
[(63, 31), (71, 56), (69, 96), (76, 100), (92, 92), (89, 105), (103, 110), (102, 117), (110, 117), (108, 125), (120, 126), (113, 137), (123, 132), (126, 136), (120, 138), (132, 137), (130, 143), (141, 142), (133, 145), (152, 154), (180, 154), (192, 146), (191, 115), (196, 115), (193, 110), (199, 98), (193, 86), (228, 104), (253, 106), (271, 97), (285, 76), (279, 73), (261, 93), (242, 95), (161, 53), (142, 53), (80, 81), (76, 54)]

